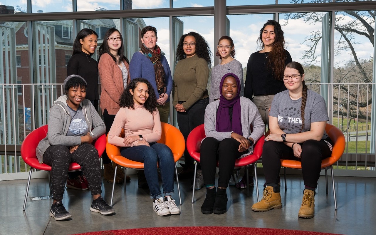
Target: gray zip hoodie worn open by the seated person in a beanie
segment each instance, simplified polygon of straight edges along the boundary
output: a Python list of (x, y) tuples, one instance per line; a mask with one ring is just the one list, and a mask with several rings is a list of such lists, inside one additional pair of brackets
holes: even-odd
[[(80, 136), (67, 136), (71, 123), (67, 100), (67, 95), (59, 97), (50, 109), (47, 136), (39, 142), (36, 148), (36, 156), (40, 163), (43, 162), (45, 150), (50, 146), (61, 144), (70, 147), (81, 144)], [(84, 99), (80, 105), (90, 134), (93, 139), (97, 139), (106, 132), (105, 123), (89, 100)]]

